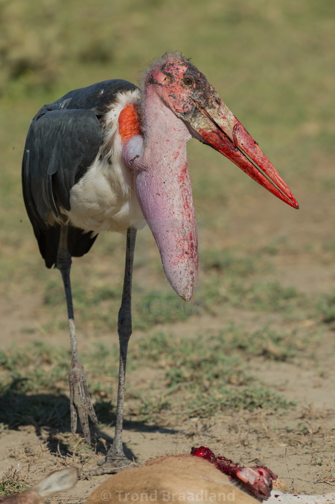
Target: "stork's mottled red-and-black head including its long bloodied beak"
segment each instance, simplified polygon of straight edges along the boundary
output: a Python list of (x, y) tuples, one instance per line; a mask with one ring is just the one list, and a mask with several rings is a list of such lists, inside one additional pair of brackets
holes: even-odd
[(299, 208), (257, 142), (190, 61), (177, 52), (165, 54), (149, 71), (145, 88), (149, 86), (153, 86), (165, 105), (183, 120), (193, 138), (221, 152), (268, 191)]

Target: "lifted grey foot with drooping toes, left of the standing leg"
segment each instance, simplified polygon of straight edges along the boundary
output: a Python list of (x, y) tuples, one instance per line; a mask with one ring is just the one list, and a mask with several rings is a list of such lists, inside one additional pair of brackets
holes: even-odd
[(77, 414), (85, 435), (86, 443), (91, 443), (88, 416), (95, 425), (98, 419), (95, 414), (91, 398), (88, 392), (86, 373), (79, 357), (74, 356), (71, 360), (69, 371), (70, 384), (70, 409), (71, 409), (71, 431), (73, 434), (77, 430)]

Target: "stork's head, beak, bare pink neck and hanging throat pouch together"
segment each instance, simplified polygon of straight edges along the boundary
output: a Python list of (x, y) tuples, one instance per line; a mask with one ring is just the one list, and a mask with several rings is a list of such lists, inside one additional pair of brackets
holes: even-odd
[(137, 136), (125, 143), (122, 154), (134, 168), (136, 195), (165, 274), (173, 289), (188, 300), (195, 289), (198, 253), (187, 140), (193, 137), (210, 145), (285, 203), (299, 207), (258, 144), (204, 74), (181, 54), (165, 54), (156, 61), (143, 91), (145, 148), (138, 154)]

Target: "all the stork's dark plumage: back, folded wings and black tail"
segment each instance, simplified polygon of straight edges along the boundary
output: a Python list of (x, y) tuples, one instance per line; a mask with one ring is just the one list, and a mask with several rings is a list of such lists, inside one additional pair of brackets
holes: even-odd
[[(59, 225), (46, 223), (49, 214), (58, 216), (59, 207), (70, 210), (71, 188), (93, 163), (102, 142), (99, 117), (117, 93), (135, 89), (122, 80), (98, 82), (44, 105), (31, 121), (22, 162), (23, 197), (48, 268), (56, 263), (60, 232)], [(69, 229), (72, 256), (88, 252), (96, 238), (90, 235)]]

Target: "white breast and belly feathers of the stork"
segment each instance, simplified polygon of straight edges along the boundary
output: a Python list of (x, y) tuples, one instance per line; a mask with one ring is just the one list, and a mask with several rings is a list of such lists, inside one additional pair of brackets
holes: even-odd
[(71, 210), (61, 208), (70, 223), (85, 231), (93, 231), (93, 236), (101, 231), (124, 232), (131, 220), (144, 219), (133, 188), (132, 172), (121, 156), (122, 143), (118, 133), (121, 110), (127, 103), (139, 103), (140, 99), (139, 89), (118, 93), (104, 116), (106, 128), (102, 145), (110, 143), (109, 155), (99, 161), (100, 148), (93, 164), (71, 189)]

